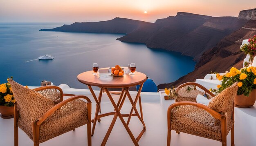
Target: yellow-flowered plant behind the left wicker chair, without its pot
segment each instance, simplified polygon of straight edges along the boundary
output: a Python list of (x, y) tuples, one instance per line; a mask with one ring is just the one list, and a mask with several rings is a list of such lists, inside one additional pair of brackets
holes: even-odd
[[(12, 78), (13, 77), (11, 77), (11, 79)], [(14, 103), (15, 99), (13, 97), (11, 85), (9, 83), (0, 84), (0, 106), (14, 106)]]

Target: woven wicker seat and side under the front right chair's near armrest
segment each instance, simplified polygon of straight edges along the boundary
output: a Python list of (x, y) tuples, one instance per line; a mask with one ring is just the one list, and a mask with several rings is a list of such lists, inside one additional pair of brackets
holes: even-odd
[[(182, 105), (171, 111), (171, 129), (221, 142), (220, 122), (202, 108)], [(217, 119), (218, 120), (218, 119)]]

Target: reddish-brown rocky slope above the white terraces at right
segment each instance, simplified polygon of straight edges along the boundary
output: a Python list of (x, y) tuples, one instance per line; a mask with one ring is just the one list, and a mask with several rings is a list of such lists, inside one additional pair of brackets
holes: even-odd
[[(195, 82), (196, 79), (202, 79), (207, 73), (219, 72), (224, 73), (232, 66), (240, 69), (243, 67), (243, 59), (246, 55), (240, 52), (242, 41), (251, 38), (256, 34), (256, 20), (249, 20), (244, 27), (227, 35), (220, 42), (202, 54), (200, 61), (196, 64), (195, 71), (168, 84), (160, 84), (158, 88), (170, 88), (178, 86), (185, 82)], [(255, 29), (255, 30), (253, 30)]]

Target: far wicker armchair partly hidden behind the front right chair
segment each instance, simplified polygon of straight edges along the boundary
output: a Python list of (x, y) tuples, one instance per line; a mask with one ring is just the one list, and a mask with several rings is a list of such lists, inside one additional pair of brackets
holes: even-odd
[[(194, 86), (194, 89), (188, 92), (187, 87), (191, 86), (191, 85)], [(204, 90), (204, 92), (197, 90), (195, 88), (196, 86), (198, 86), (199, 88)], [(175, 92), (177, 95), (175, 102), (183, 102), (183, 101), (196, 102), (196, 96), (198, 94), (200, 94), (200, 95), (208, 94), (209, 99), (211, 99), (212, 97), (215, 96), (207, 88), (204, 88), (204, 86), (202, 86), (196, 82), (187, 82), (187, 83), (181, 84), (180, 86), (178, 86), (175, 89)]]

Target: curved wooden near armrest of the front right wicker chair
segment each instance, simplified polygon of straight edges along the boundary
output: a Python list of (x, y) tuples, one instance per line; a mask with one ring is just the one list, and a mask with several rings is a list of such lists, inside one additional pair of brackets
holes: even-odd
[(198, 108), (202, 108), (205, 111), (207, 111), (209, 114), (211, 114), (214, 118), (222, 120), (226, 116), (223, 114), (220, 114), (216, 112), (214, 109), (210, 108), (209, 106), (206, 106), (204, 104), (196, 103), (196, 102), (175, 102), (174, 104), (171, 104), (167, 110), (167, 117), (168, 119), (171, 118), (171, 110), (175, 108), (176, 106), (181, 106), (181, 105), (191, 105), (191, 106), (196, 106)]

